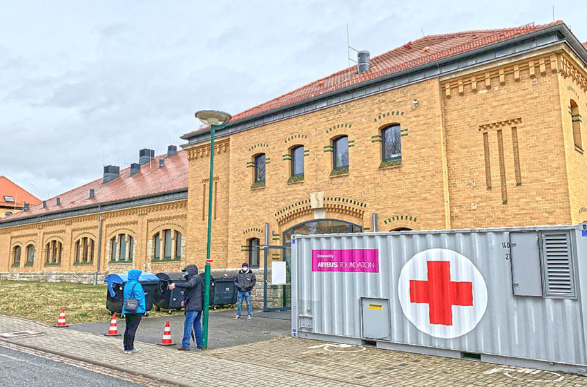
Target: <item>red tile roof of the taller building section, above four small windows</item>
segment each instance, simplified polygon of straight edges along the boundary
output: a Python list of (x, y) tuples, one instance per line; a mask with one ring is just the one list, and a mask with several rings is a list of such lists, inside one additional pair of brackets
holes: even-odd
[[(394, 48), (394, 50), (388, 51), (387, 53), (373, 57), (371, 59), (371, 68), (364, 73), (358, 74), (356, 66), (345, 68), (344, 70), (338, 71), (338, 73), (318, 79), (315, 82), (297, 88), (294, 91), (274, 98), (264, 104), (260, 104), (238, 113), (232, 117), (231, 121), (242, 120), (251, 115), (257, 115), (274, 108), (280, 108), (295, 102), (307, 100), (311, 97), (316, 97), (317, 95), (329, 93), (340, 88), (359, 84), (360, 82), (365, 82), (369, 79), (382, 77), (407, 68), (434, 62), (437, 59), (464, 53), (473, 50), (474, 48), (487, 46), (488, 44), (493, 44), (497, 41), (510, 39), (512, 37), (517, 37), (528, 32), (541, 30), (561, 23), (563, 22), (555, 21), (548, 24), (541, 24), (539, 26), (530, 23), (526, 24), (526, 26), (515, 28), (454, 32), (445, 35), (421, 37), (420, 39), (410, 41), (401, 47)], [(184, 134), (184, 136), (189, 136), (205, 129), (207, 129), (207, 127), (191, 131), (190, 133)]]

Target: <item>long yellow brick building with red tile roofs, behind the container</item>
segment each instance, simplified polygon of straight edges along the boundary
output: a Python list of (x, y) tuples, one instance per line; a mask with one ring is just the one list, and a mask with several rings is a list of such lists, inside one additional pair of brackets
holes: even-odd
[[(102, 198), (101, 190), (123, 183), (96, 181), (74, 190), (87, 196), (93, 187), (95, 200), (104, 200), (91, 214), (75, 212), (90, 199), (75, 199), (68, 216), (35, 206), (16, 223), (0, 223), (0, 272), (55, 271), (52, 262), (16, 266), (9, 254), (29, 239), (41, 250), (58, 237), (58, 270), (75, 272), (77, 237), (97, 240), (100, 221), (101, 273), (203, 264), (209, 184), (214, 267), (262, 266), (258, 245), (287, 245), (292, 232), (587, 220), (587, 48), (564, 23), (427, 36), (372, 59), (360, 53), (359, 62), (235, 115), (217, 133), (212, 182), (209, 130), (201, 129), (182, 136), (184, 151), (164, 158), (177, 185)], [(121, 176), (124, 185), (133, 178), (128, 170)], [(160, 201), (137, 202), (151, 193)], [(108, 207), (118, 202), (128, 207)], [(35, 211), (59, 219), (37, 220)], [(168, 229), (171, 240), (182, 235), (173, 266), (152, 257), (155, 235), (164, 249)], [(132, 264), (105, 258), (119, 234), (135, 243)], [(86, 267), (96, 270), (96, 262)]]

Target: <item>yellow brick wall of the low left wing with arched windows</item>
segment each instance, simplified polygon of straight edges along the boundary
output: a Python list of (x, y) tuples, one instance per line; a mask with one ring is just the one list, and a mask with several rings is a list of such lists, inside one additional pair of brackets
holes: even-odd
[[(101, 272), (126, 272), (131, 268), (151, 272), (177, 271), (186, 262), (185, 252), (180, 262), (153, 263), (153, 251), (148, 249), (155, 234), (162, 229), (173, 229), (184, 236), (186, 245), (186, 205), (187, 201), (177, 201), (164, 205), (152, 205), (135, 209), (110, 211), (102, 214)], [(99, 215), (77, 216), (0, 229), (0, 272), (88, 272), (95, 271), (97, 265)], [(134, 259), (132, 263), (109, 263), (110, 238), (117, 234), (128, 234), (135, 238)], [(88, 237), (95, 241), (93, 263), (74, 264), (75, 242)], [(62, 243), (61, 263), (46, 265), (46, 243), (59, 240)], [(21, 263), (12, 265), (13, 249), (22, 247)], [(26, 247), (35, 246), (35, 259), (32, 265), (27, 261)], [(128, 248), (128, 247), (127, 247)], [(185, 250), (185, 247), (184, 247)]]

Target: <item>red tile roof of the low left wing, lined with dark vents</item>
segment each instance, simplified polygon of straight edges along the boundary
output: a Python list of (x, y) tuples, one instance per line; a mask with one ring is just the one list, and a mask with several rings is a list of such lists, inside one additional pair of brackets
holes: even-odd
[[(159, 159), (165, 158), (165, 166), (159, 168)], [(86, 207), (106, 202), (127, 200), (157, 193), (165, 193), (187, 189), (188, 187), (188, 159), (186, 151), (178, 151), (176, 155), (167, 158), (166, 155), (155, 157), (151, 163), (144, 164), (140, 173), (131, 175), (131, 169), (120, 171), (120, 177), (104, 184), (102, 178), (88, 182), (86, 185), (61, 193), (46, 200), (47, 207), (35, 205), (29, 211), (13, 214), (3, 220), (15, 220), (29, 216), (38, 216), (57, 211)], [(90, 188), (94, 189), (95, 197), (90, 199)], [(57, 205), (57, 198), (61, 204)], [(0, 220), (1, 223), (1, 220)]]

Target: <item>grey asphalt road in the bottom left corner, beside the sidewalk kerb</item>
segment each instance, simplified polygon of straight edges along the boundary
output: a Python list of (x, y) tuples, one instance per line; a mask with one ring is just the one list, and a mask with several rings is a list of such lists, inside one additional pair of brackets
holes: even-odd
[(140, 386), (2, 346), (0, 346), (0, 385), (3, 387)]

